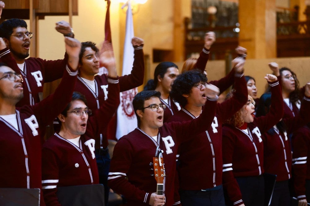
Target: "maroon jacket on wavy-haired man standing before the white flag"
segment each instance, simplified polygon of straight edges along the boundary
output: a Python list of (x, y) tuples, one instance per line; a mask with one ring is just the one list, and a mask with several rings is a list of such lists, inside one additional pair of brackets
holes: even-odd
[[(131, 74), (119, 77), (119, 88), (120, 92), (133, 89), (143, 84), (144, 80), (144, 56), (143, 56), (143, 45), (134, 46), (135, 56)], [(106, 74), (95, 76), (95, 92), (83, 81), (82, 78), (78, 77), (78, 81), (75, 85), (75, 91), (78, 91), (85, 95), (87, 99), (88, 107), (92, 111), (99, 109), (100, 105), (108, 99), (108, 76)], [(119, 98), (119, 94), (117, 94)], [(110, 98), (111, 96), (109, 96)], [(103, 149), (108, 146), (107, 131), (99, 134), (100, 139), (96, 141), (95, 148)]]

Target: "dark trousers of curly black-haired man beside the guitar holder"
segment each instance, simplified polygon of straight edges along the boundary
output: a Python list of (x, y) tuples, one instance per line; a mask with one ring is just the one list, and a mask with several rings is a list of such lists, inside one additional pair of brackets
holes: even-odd
[(182, 206), (224, 206), (223, 187), (202, 190), (180, 190)]

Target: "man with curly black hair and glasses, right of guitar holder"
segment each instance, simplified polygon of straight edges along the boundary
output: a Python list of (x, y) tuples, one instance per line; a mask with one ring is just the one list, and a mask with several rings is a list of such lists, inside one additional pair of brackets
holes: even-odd
[[(175, 181), (176, 203), (180, 201), (183, 206), (225, 205), (222, 186), (222, 124), (241, 109), (248, 99), (243, 76), (244, 62), (241, 57), (232, 61), (236, 92), (231, 99), (217, 104), (211, 127), (179, 146), (176, 174), (178, 178)], [(201, 115), (206, 109), (206, 81), (206, 76), (199, 70), (179, 75), (172, 85), (170, 95), (182, 105), (182, 109), (168, 122), (193, 120)]]

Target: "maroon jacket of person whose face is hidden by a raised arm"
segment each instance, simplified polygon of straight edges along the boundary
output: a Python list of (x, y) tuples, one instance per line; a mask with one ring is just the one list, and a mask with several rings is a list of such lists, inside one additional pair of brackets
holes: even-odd
[(281, 132), (272, 128), (262, 136), (264, 143), (264, 170), (276, 174), (277, 181), (288, 180), (292, 177), (292, 153), (289, 134), (310, 120), (310, 99), (304, 97), (300, 113), (295, 117), (283, 119), (286, 131)]

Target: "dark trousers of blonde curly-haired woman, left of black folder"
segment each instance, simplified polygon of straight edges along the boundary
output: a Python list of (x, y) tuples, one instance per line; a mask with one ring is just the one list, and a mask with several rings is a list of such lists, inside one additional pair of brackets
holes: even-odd
[(246, 206), (263, 206), (265, 182), (263, 175), (254, 177), (236, 177), (242, 200)]

